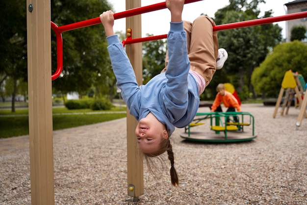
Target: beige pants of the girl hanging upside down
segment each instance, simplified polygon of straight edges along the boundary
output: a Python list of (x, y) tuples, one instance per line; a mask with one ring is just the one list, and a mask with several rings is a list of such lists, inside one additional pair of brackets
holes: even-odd
[[(207, 16), (199, 16), (193, 23), (184, 21), (186, 31), (188, 56), (191, 62), (190, 69), (205, 79), (206, 86), (211, 81), (216, 69), (218, 58), (217, 32), (213, 31), (214, 21)], [(168, 64), (168, 54), (165, 57), (165, 72)]]

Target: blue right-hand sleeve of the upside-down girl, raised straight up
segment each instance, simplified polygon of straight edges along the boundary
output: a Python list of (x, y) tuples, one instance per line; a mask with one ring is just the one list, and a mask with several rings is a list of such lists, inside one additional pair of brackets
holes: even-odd
[[(188, 107), (188, 75), (190, 61), (187, 54), (186, 32), (183, 22), (170, 23), (171, 29), (167, 36), (168, 42), (168, 67), (165, 72), (167, 77), (164, 101), (165, 110), (169, 117), (181, 118)], [(176, 112), (174, 112), (176, 109)]]

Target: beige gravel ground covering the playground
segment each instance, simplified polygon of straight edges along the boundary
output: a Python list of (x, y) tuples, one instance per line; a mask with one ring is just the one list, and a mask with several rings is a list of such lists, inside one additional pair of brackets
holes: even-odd
[[(242, 105), (255, 117), (257, 137), (248, 142), (187, 142), (180, 137), (184, 129), (177, 128), (179, 187), (171, 185), (168, 170), (157, 179), (144, 165), (138, 202), (127, 194), (126, 118), (56, 130), (55, 204), (306, 205), (307, 119), (296, 130), (299, 109), (290, 107), (274, 119), (274, 108)], [(0, 205), (30, 205), (30, 193), (28, 136), (0, 139)]]

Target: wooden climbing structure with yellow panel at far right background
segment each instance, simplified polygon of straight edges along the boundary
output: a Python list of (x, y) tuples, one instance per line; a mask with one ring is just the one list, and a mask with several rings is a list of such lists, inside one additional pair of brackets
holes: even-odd
[[(301, 125), (303, 116), (307, 117), (306, 113), (306, 92), (305, 92), (306, 82), (302, 75), (298, 73), (293, 73), (291, 70), (286, 71), (281, 82), (281, 90), (275, 105), (275, 110), (273, 113), (273, 118), (276, 117), (277, 111), (281, 106), (280, 114), (288, 114), (289, 108), (293, 99), (295, 100), (295, 106), (301, 106), (298, 121), (296, 123), (296, 129)], [(305, 92), (305, 97), (303, 97)], [(303, 101), (304, 99), (304, 101)], [(281, 100), (283, 100), (281, 105)], [(304, 103), (305, 105), (304, 105)]]

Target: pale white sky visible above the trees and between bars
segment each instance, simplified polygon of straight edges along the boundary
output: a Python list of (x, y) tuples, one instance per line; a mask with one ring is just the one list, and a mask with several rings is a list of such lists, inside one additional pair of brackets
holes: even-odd
[[(113, 12), (122, 12), (126, 10), (126, 0), (108, 0), (113, 5)], [(266, 0), (266, 3), (260, 3), (260, 16), (263, 16), (264, 11), (270, 9), (273, 10), (273, 16), (282, 16), (286, 14), (285, 3), (293, 0)], [(142, 6), (152, 5), (155, 3), (161, 3), (164, 0), (141, 0)], [(182, 19), (193, 22), (202, 13), (209, 17), (214, 17), (214, 13), (229, 4), (229, 0), (201, 0), (184, 5)], [(153, 11), (142, 14), (142, 37), (145, 37), (147, 33), (153, 35), (167, 34), (169, 31), (170, 12), (168, 9), (162, 9), (159, 11)], [(285, 22), (277, 23), (282, 27), (282, 36), (285, 38)], [(115, 31), (126, 30), (126, 20), (117, 19), (114, 22)]]

